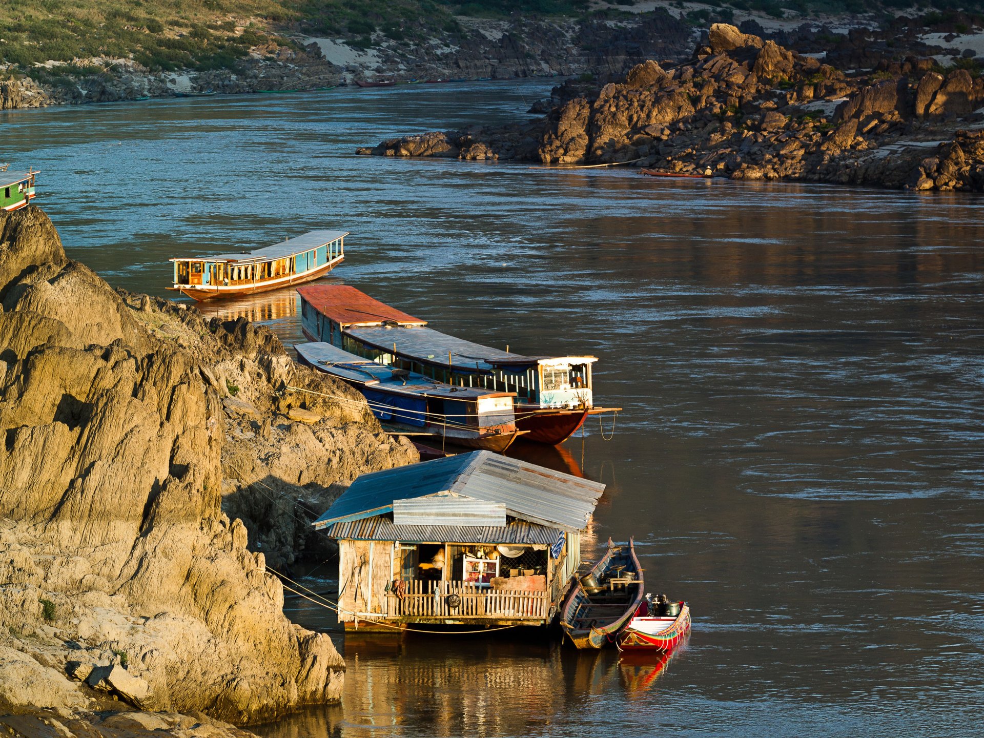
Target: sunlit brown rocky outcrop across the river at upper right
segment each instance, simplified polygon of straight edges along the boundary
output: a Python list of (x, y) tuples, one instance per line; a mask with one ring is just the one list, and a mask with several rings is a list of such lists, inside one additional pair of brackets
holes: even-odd
[(732, 179), (984, 189), (984, 80), (909, 58), (847, 75), (715, 24), (692, 60), (555, 88), (521, 125), (406, 136), (361, 154), (633, 162)]

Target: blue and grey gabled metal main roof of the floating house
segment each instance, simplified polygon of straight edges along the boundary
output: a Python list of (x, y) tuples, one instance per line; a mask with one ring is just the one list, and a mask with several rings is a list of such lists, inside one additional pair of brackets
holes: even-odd
[(363, 474), (314, 525), (383, 515), (396, 500), (452, 492), (502, 503), (511, 517), (527, 523), (583, 530), (604, 489), (599, 482), (475, 451)]

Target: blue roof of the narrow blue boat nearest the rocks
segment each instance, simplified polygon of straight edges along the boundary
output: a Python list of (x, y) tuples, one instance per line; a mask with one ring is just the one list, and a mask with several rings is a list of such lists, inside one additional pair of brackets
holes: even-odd
[(457, 387), (416, 372), (398, 370), (395, 373), (393, 367), (377, 364), (322, 341), (298, 343), (294, 348), (308, 363), (333, 377), (387, 392), (464, 401), (516, 397), (516, 393), (512, 392), (489, 392), (479, 387)]

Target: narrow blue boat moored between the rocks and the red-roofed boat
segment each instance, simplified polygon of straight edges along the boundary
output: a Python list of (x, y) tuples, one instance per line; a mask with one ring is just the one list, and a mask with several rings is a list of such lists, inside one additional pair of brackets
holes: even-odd
[(323, 341), (294, 346), (301, 363), (354, 387), (384, 425), (441, 437), (469, 449), (503, 452), (522, 431), (515, 393), (455, 387), (344, 351)]

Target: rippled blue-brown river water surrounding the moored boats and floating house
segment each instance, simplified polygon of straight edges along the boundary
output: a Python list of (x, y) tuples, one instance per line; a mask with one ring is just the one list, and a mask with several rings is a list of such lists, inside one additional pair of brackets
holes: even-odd
[[(170, 256), (351, 231), (331, 279), (443, 332), (593, 353), (584, 439), (533, 461), (608, 488), (690, 602), (668, 663), (518, 638), (333, 631), (340, 706), (294, 736), (970, 735), (984, 717), (984, 200), (359, 157), (522, 119), (550, 81), (0, 114), (69, 254), (165, 294)], [(210, 306), (299, 338), (290, 291)], [(602, 432), (603, 431), (603, 432)], [(331, 562), (305, 581), (330, 590)], [(344, 643), (343, 643), (344, 642)]]

